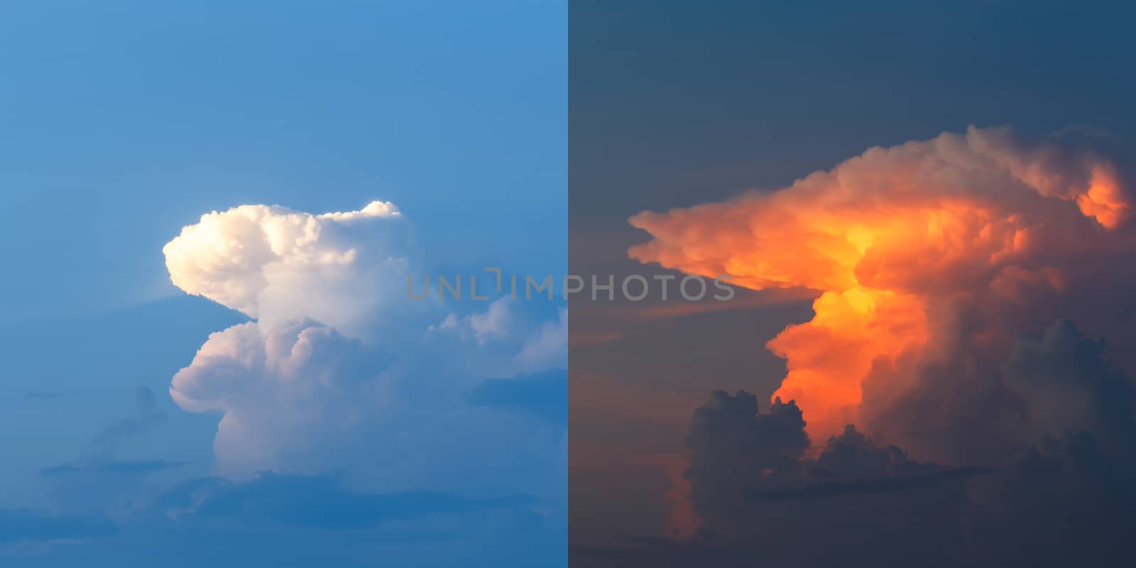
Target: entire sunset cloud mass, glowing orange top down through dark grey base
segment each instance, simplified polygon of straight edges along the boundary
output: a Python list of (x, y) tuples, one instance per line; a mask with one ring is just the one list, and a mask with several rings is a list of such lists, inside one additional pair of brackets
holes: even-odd
[(682, 538), (638, 561), (1130, 557), (1134, 158), (1101, 135), (971, 127), (632, 217), (652, 237), (634, 259), (816, 294), (766, 345), (787, 368), (768, 404), (719, 391), (694, 411)]

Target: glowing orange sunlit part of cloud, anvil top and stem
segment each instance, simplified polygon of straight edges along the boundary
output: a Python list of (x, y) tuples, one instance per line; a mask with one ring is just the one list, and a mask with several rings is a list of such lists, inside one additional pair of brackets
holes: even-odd
[(754, 290), (820, 291), (812, 320), (767, 346), (788, 369), (775, 396), (797, 401), (810, 437), (826, 440), (860, 425), (869, 376), (897, 377), (886, 369), (935, 349), (935, 302), (1060, 291), (1068, 275), (1051, 260), (1128, 219), (1117, 169), (1062, 152), (975, 127), (872, 148), (777, 191), (638, 214), (630, 224), (652, 240), (628, 253)]

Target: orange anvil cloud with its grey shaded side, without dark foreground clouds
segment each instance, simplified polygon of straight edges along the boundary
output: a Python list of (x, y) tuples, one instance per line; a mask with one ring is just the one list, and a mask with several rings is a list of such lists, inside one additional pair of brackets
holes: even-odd
[[(1066, 333), (1054, 321), (1133, 339), (1119, 315), (1136, 283), (1136, 177), (1116, 145), (971, 127), (872, 148), (776, 191), (638, 214), (652, 240), (629, 253), (819, 293), (815, 317), (767, 345), (788, 368), (776, 396), (815, 441), (852, 424), (919, 459), (999, 463), (1108, 403), (1079, 352), (1050, 351)], [(1128, 353), (1105, 356), (1131, 374)]]

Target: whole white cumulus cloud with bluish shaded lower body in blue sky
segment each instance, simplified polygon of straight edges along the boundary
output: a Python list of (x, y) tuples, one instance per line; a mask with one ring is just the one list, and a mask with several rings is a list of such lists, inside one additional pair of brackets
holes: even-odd
[(342, 469), (373, 490), (562, 496), (562, 425), (469, 393), (563, 368), (567, 314), (534, 321), (500, 299), (444, 317), (407, 296), (408, 234), (383, 201), (324, 215), (242, 206), (165, 247), (174, 284), (254, 318), (211, 334), (170, 386), (181, 408), (223, 414), (217, 474)]

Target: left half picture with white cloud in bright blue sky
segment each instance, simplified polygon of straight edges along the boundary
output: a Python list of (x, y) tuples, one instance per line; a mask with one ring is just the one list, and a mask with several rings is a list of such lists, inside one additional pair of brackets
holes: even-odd
[(567, 566), (567, 26), (0, 6), (0, 566)]

